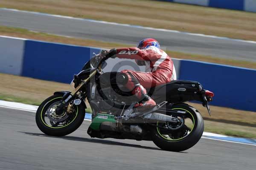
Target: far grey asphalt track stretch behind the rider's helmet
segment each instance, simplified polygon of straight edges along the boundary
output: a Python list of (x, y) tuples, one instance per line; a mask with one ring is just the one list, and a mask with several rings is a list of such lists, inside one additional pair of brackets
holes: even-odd
[(0, 9), (0, 25), (20, 27), (57, 35), (134, 45), (145, 37), (154, 37), (160, 41), (163, 49), (256, 62), (256, 43), (225, 38), (219, 39), (179, 32), (165, 32), (4, 9)]

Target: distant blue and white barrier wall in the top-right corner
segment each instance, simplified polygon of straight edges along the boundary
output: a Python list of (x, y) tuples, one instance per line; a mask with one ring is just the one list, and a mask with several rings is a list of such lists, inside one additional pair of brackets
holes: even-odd
[(235, 9), (256, 12), (256, 0), (160, 0), (175, 3), (186, 3), (214, 8)]

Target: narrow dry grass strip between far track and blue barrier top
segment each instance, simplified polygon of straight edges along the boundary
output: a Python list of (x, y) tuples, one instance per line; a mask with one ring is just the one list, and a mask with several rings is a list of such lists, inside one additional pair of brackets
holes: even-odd
[[(13, 28), (13, 27), (7, 27), (7, 26), (0, 26), (0, 35), (43, 40), (43, 41), (49, 41), (49, 42), (55, 42), (55, 43), (67, 43), (67, 44), (73, 44), (73, 45), (79, 45), (79, 46), (93, 46), (93, 47), (99, 47), (99, 48), (100, 47), (111, 48), (111, 47), (132, 46), (131, 44), (111, 43), (111, 42), (103, 42), (103, 41), (96, 41), (96, 40), (89, 40), (89, 39), (79, 39), (79, 38), (73, 38), (73, 37), (51, 35), (51, 34), (41, 33), (41, 32), (32, 32), (27, 29)], [(219, 63), (219, 64), (226, 64), (231, 66), (239, 66), (239, 67), (246, 67), (250, 69), (256, 69), (255, 62), (216, 58), (213, 56), (195, 55), (195, 54), (188, 54), (188, 53), (175, 52), (175, 51), (167, 51), (167, 53), (173, 58), (197, 60), (197, 61), (204, 61), (204, 62), (210, 62), (210, 63)]]

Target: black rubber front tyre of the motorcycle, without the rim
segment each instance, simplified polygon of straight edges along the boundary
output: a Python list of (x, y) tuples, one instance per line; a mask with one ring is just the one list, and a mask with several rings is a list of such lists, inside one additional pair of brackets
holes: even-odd
[(52, 95), (49, 98), (47, 98), (43, 103), (38, 107), (38, 110), (36, 112), (35, 121), (38, 126), (38, 128), (45, 133), (46, 135), (51, 136), (64, 136), (68, 135), (72, 132), (74, 132), (77, 128), (80, 127), (82, 122), (84, 121), (85, 116), (85, 106), (83, 103), (76, 106), (76, 112), (74, 114), (74, 118), (70, 123), (63, 127), (54, 127), (50, 126), (46, 123), (44, 120), (45, 113), (48, 109), (48, 107), (53, 104), (54, 102), (61, 101), (62, 95)]

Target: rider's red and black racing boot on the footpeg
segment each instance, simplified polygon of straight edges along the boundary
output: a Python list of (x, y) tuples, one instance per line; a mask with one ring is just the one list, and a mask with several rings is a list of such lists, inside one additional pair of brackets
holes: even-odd
[(146, 89), (141, 84), (136, 84), (132, 91), (132, 94), (136, 95), (138, 99), (142, 101), (134, 106), (139, 112), (151, 109), (155, 107), (156, 102), (147, 94)]

